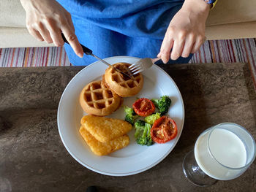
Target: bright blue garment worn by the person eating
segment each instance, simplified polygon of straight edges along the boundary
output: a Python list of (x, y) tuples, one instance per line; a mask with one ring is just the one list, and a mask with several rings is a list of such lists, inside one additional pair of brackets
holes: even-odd
[[(156, 58), (165, 31), (183, 0), (58, 0), (72, 15), (81, 44), (100, 58), (129, 55)], [(79, 58), (65, 45), (73, 65), (96, 61), (91, 55)], [(187, 63), (189, 58), (176, 61)]]

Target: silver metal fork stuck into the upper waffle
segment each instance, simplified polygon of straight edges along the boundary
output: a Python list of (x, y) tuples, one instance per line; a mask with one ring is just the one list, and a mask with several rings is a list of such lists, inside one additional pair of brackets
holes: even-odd
[(139, 61), (136, 61), (134, 64), (129, 66), (129, 71), (135, 75), (140, 72), (145, 71), (150, 68), (155, 62), (157, 62), (160, 58), (142, 58)]

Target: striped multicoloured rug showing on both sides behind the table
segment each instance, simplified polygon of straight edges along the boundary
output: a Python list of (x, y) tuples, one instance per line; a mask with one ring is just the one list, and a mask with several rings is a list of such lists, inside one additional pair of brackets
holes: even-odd
[[(249, 63), (256, 85), (256, 39), (206, 41), (190, 63)], [(0, 67), (70, 66), (63, 47), (0, 49)]]

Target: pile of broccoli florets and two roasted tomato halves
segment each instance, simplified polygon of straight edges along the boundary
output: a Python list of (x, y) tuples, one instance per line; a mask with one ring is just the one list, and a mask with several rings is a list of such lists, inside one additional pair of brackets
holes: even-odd
[[(154, 104), (158, 107), (157, 109)], [(137, 99), (132, 104), (133, 110), (127, 106), (124, 107), (124, 120), (135, 128), (135, 139), (139, 145), (165, 143), (176, 137), (178, 130), (175, 121), (163, 116), (168, 112), (170, 104), (169, 96), (161, 96), (160, 99)]]

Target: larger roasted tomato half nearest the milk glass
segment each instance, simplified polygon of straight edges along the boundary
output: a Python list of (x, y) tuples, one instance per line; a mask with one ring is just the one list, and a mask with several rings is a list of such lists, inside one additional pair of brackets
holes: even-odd
[(167, 116), (157, 119), (151, 128), (151, 138), (154, 142), (165, 143), (174, 139), (178, 133), (174, 120)]

